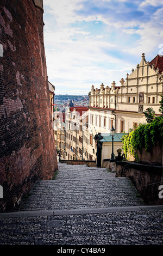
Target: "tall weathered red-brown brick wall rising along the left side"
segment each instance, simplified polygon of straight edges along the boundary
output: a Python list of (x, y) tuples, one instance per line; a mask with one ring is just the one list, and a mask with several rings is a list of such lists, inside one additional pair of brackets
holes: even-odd
[(42, 11), (32, 0), (0, 2), (0, 211), (17, 210), (39, 179), (58, 169)]

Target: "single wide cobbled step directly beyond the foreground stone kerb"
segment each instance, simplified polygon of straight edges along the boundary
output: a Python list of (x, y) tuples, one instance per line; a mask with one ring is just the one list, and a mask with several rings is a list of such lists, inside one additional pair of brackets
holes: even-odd
[[(128, 178), (40, 181), (21, 210), (108, 208), (143, 205)], [(139, 196), (139, 195), (138, 195)]]

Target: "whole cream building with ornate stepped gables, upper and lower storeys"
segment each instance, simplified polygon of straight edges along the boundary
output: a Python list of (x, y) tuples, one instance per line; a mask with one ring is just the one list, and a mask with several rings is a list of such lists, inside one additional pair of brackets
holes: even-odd
[[(147, 62), (142, 53), (140, 64), (137, 64), (126, 81), (122, 78), (120, 85), (115, 81), (111, 87), (98, 89), (94, 86), (89, 93), (89, 133), (95, 136), (98, 132), (107, 133), (112, 125), (117, 133), (128, 132), (140, 123), (146, 123), (143, 111), (152, 107), (159, 114), (159, 101), (163, 92), (163, 56), (156, 56)], [(95, 141), (92, 147), (95, 148)], [(93, 155), (96, 159), (96, 154)], [(108, 156), (110, 157), (110, 156)]]

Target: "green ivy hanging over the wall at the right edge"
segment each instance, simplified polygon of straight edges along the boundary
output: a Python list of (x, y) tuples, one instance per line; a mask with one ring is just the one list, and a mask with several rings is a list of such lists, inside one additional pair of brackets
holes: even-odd
[(139, 161), (137, 151), (145, 148), (147, 152), (151, 152), (156, 142), (161, 142), (163, 138), (163, 115), (155, 117), (151, 123), (140, 124), (136, 130), (130, 131), (129, 134), (122, 137), (124, 154), (135, 157), (135, 161)]

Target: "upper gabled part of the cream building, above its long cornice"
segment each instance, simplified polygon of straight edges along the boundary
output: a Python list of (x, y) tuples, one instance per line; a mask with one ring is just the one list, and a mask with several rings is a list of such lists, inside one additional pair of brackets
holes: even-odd
[(112, 82), (111, 88), (104, 84), (100, 89), (91, 88), (89, 94), (90, 108), (116, 111), (131, 111), (142, 113), (146, 108), (153, 107), (159, 114), (159, 101), (163, 87), (163, 57), (156, 56), (150, 63), (142, 53), (141, 63), (131, 74), (127, 74), (126, 81), (122, 78), (120, 86)]

